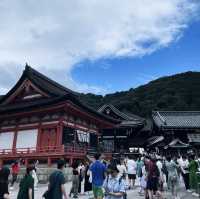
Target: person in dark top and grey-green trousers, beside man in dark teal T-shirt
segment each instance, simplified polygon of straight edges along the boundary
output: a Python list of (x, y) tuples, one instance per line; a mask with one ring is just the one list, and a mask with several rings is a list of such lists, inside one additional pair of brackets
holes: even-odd
[(69, 197), (73, 194), (73, 198), (78, 198), (78, 188), (79, 188), (79, 172), (78, 172), (78, 163), (74, 162), (72, 164), (72, 187), (70, 190)]

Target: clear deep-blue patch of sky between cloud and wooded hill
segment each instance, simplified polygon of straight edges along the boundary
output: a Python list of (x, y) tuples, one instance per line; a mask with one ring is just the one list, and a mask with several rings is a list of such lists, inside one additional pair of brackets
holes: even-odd
[(166, 48), (139, 58), (83, 61), (72, 71), (72, 75), (80, 83), (116, 92), (186, 71), (200, 72), (200, 21), (197, 20), (189, 24), (178, 41)]

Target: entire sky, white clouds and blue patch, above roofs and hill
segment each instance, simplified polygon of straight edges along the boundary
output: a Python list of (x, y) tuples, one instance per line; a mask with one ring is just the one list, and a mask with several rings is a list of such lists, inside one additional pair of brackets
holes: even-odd
[(1, 0), (0, 94), (29, 65), (105, 94), (200, 71), (199, 0)]

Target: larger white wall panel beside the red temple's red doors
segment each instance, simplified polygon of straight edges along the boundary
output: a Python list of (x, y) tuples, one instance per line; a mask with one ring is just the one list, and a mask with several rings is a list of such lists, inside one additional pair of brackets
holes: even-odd
[(16, 148), (35, 148), (37, 136), (38, 129), (18, 131)]

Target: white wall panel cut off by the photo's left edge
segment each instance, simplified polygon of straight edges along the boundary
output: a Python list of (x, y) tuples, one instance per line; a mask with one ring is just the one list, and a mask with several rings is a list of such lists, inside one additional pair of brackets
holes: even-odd
[(0, 133), (0, 149), (12, 149), (14, 132)]

